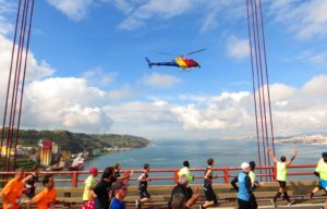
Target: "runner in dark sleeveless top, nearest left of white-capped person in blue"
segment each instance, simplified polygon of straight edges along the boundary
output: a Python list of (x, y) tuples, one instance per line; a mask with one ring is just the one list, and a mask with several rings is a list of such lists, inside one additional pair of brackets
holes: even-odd
[(203, 205), (204, 208), (213, 206), (215, 204), (217, 204), (217, 196), (213, 189), (213, 168), (214, 168), (214, 159), (209, 158), (207, 160), (207, 164), (208, 168), (205, 171), (205, 176), (204, 176), (204, 186), (203, 189), (205, 192), (205, 196), (206, 196), (206, 201)]

